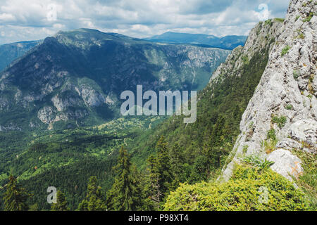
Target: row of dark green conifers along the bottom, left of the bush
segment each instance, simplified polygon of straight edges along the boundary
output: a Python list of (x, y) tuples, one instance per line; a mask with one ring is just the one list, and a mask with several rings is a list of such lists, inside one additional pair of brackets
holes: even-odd
[[(170, 191), (175, 191), (182, 180), (180, 148), (175, 145), (168, 150), (167, 146), (168, 143), (161, 136), (156, 144), (156, 154), (148, 158), (147, 170), (142, 172), (132, 162), (128, 150), (121, 147), (117, 165), (113, 167), (116, 176), (112, 187), (105, 193), (98, 185), (97, 176), (91, 176), (85, 198), (77, 205), (77, 210), (161, 210)], [(9, 176), (5, 189), (5, 211), (37, 210), (34, 205), (27, 205), (32, 194), (27, 193), (14, 176)], [(56, 203), (51, 204), (51, 210), (70, 210), (65, 193), (57, 191)]]

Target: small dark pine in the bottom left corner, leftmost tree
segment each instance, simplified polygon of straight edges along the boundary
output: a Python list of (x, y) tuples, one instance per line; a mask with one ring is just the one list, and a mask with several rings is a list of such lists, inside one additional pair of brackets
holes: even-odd
[(26, 201), (30, 196), (21, 187), (14, 176), (9, 176), (4, 193), (4, 211), (25, 211), (28, 209)]

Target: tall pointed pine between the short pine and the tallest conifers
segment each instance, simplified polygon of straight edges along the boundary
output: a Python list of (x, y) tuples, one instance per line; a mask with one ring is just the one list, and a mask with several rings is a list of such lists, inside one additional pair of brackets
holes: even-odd
[(112, 188), (107, 193), (109, 210), (139, 210), (142, 205), (142, 191), (137, 183), (137, 169), (132, 166), (130, 155), (121, 147), (118, 164), (113, 167), (117, 176)]

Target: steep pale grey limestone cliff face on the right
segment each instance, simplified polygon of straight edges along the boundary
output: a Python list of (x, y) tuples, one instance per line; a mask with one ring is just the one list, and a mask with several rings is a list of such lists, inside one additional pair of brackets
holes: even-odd
[[(290, 1), (285, 21), (276, 30), (266, 70), (242, 116), (241, 134), (232, 152), (235, 156), (223, 168), (223, 179), (230, 178), (232, 164), (237, 155), (243, 154), (244, 146), (248, 146), (246, 155), (268, 156), (275, 162), (272, 169), (287, 179), (290, 179), (287, 174), (290, 168), (294, 164), (300, 168), (301, 162), (285, 149), (316, 153), (316, 11), (314, 1)], [(309, 15), (313, 15), (310, 20)], [(254, 37), (254, 32), (251, 32), (248, 41), (250, 39), (260, 37)], [(283, 118), (285, 122), (278, 125), (273, 117)], [(285, 149), (267, 155), (263, 141), (268, 139), (270, 130), (275, 132), (278, 140), (276, 148)]]

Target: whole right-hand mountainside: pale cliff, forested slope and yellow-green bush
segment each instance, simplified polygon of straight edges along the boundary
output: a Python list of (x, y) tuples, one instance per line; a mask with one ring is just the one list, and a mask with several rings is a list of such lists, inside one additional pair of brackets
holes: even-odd
[(196, 123), (171, 117), (128, 143), (144, 168), (164, 136), (181, 183), (165, 210), (316, 210), (316, 11), (290, 1), (285, 20), (256, 25), (213, 73)]

